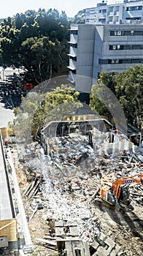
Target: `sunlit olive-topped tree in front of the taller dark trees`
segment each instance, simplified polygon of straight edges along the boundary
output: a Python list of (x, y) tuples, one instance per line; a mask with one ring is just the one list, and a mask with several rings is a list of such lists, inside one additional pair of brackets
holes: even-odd
[(42, 83), (51, 78), (61, 64), (64, 47), (56, 39), (52, 42), (48, 37), (31, 37), (22, 43), (22, 47), (21, 64), (28, 70), (26, 80), (34, 77), (36, 83)]

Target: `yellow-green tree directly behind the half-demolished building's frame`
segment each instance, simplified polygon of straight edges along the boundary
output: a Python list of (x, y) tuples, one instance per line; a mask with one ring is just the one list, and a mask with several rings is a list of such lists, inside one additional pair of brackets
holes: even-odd
[(49, 121), (61, 121), (62, 118), (74, 115), (77, 108), (82, 107), (78, 100), (79, 92), (73, 88), (61, 85), (46, 94), (39, 93), (38, 89), (27, 94), (22, 99), (17, 114), (15, 134), (24, 137), (28, 142), (31, 134), (35, 134)]

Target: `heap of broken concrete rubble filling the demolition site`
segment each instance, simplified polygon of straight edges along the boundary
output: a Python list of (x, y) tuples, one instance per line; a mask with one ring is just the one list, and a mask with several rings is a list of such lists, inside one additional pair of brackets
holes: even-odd
[[(117, 135), (116, 140), (109, 142), (109, 133), (99, 134), (97, 131), (93, 133), (92, 143), (88, 136), (79, 134), (50, 138), (47, 155), (39, 144), (32, 143), (27, 146), (26, 154), (21, 159), (29, 182), (24, 195), (33, 204), (34, 214), (37, 211), (35, 197), (38, 196), (42, 206), (47, 208), (47, 219), (53, 223), (76, 223), (76, 236), (79, 241), (88, 244), (90, 255), (138, 255), (134, 252), (131, 254), (125, 246), (117, 244), (113, 234), (109, 236), (108, 232), (104, 233), (101, 223), (104, 212), (101, 211), (99, 217), (94, 197), (99, 197), (103, 177), (115, 180), (143, 173), (141, 148), (134, 146), (123, 135)], [(133, 208), (142, 208), (142, 184), (131, 184), (130, 197)], [(63, 232), (62, 236), (66, 234)], [(61, 255), (69, 255), (65, 249)]]

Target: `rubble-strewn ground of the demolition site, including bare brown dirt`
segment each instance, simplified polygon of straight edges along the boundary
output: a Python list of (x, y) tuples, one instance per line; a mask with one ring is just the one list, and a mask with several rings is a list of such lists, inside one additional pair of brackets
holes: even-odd
[[(31, 148), (34, 148), (35, 144), (33, 143)], [(103, 232), (120, 246), (117, 255), (143, 255), (142, 184), (131, 184), (131, 206), (134, 210), (125, 214), (113, 211), (104, 205), (98, 206), (93, 200), (94, 192), (100, 187), (101, 178), (108, 180), (112, 177), (116, 180), (123, 176), (139, 176), (143, 173), (142, 162), (136, 158), (132, 159), (126, 152), (96, 154), (88, 145), (86, 138), (76, 138), (76, 136), (68, 139), (53, 138), (50, 146), (55, 148), (51, 151), (50, 157), (41, 154), (39, 145), (35, 146), (35, 157), (29, 157), (27, 154), (23, 161), (17, 162), (18, 158), (15, 154), (15, 162), (17, 162), (15, 167), (22, 195), (26, 192), (28, 184), (34, 181), (34, 175), (43, 176), (44, 180), (36, 195), (31, 194), (29, 199), (26, 195), (23, 196), (28, 218), (31, 218), (36, 208), (37, 198), (40, 198), (43, 206), (28, 222), (31, 238), (36, 244), (33, 255), (58, 254), (56, 250), (51, 250), (50, 246), (45, 249), (42, 243), (35, 240), (51, 235), (48, 217), (76, 222), (80, 238), (82, 241), (88, 241), (89, 246), (94, 238)]]

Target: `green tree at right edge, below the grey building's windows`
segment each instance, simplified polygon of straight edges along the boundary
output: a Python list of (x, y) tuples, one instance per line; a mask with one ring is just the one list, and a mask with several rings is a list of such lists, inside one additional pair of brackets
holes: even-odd
[(139, 128), (143, 120), (143, 65), (128, 67), (115, 75), (115, 91), (126, 118)]

